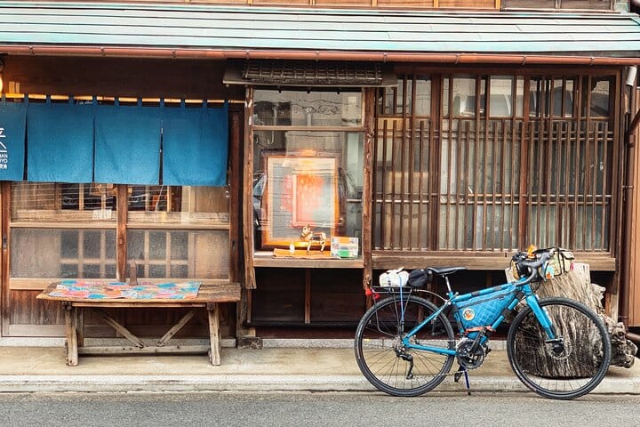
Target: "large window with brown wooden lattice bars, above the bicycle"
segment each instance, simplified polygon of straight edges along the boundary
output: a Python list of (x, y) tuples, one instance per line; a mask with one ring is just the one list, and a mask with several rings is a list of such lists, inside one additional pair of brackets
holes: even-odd
[(460, 75), (380, 90), (374, 248), (608, 252), (613, 88), (611, 76)]

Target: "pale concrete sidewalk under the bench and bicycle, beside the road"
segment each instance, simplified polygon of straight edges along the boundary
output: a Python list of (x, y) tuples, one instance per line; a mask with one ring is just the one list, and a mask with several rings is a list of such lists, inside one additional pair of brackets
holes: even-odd
[[(0, 347), (0, 392), (35, 391), (376, 391), (356, 366), (350, 348), (262, 350), (222, 348), (220, 367), (206, 355), (84, 356), (65, 363), (60, 347)], [(455, 365), (454, 365), (455, 367)], [(504, 350), (469, 371), (472, 391), (527, 391)], [(465, 392), (450, 375), (435, 391)], [(612, 367), (596, 393), (640, 394), (640, 360)]]

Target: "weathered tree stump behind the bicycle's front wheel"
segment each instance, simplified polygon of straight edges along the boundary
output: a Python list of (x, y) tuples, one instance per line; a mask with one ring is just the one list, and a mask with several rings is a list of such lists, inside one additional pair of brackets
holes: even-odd
[[(604, 308), (602, 305), (602, 298), (604, 294), (604, 287), (591, 283), (588, 264), (574, 263), (573, 270), (567, 271), (563, 275), (556, 278), (552, 278), (545, 282), (542, 282), (540, 288), (536, 294), (540, 298), (551, 296), (562, 296), (565, 298), (571, 298), (572, 300), (582, 302), (589, 309), (594, 310), (600, 318), (603, 319), (604, 325), (607, 327), (612, 341), (612, 366), (618, 367), (632, 367), (635, 360), (636, 345), (630, 342), (626, 338), (625, 326), (622, 323), (613, 321), (604, 314)], [(596, 345), (597, 339), (596, 331), (589, 330), (589, 324), (582, 322), (576, 318), (565, 318), (558, 314), (549, 313), (553, 317), (553, 321), (558, 325), (558, 330), (564, 331), (564, 334), (571, 334), (574, 339), (580, 337), (580, 340), (588, 339), (592, 342), (591, 345)], [(540, 327), (537, 325), (531, 325), (530, 327)], [(543, 376), (565, 376), (562, 372), (564, 369), (562, 364), (547, 363), (548, 354), (543, 349), (540, 349), (539, 354), (531, 359), (532, 368), (540, 370), (540, 367), (545, 367), (547, 370), (553, 369), (555, 372), (541, 372)], [(595, 364), (597, 364), (597, 360)], [(581, 369), (587, 370), (588, 364), (584, 364)], [(575, 366), (566, 367), (568, 376), (584, 375), (590, 376), (589, 372), (578, 372)], [(569, 375), (569, 371), (571, 375)], [(579, 370), (580, 371), (580, 370)]]

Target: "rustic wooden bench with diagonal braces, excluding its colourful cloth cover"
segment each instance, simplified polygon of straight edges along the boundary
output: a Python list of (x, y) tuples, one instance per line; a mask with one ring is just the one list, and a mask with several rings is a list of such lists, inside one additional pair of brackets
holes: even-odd
[[(212, 365), (220, 365), (220, 302), (240, 301), (240, 285), (237, 283), (220, 282), (203, 284), (200, 286), (195, 299), (88, 299), (52, 296), (59, 282), (52, 283), (37, 295), (38, 299), (59, 301), (65, 309), (65, 330), (67, 335), (67, 365), (76, 367), (78, 354), (126, 354), (126, 353), (209, 353)], [(108, 315), (103, 309), (140, 309), (140, 308), (191, 308), (180, 320), (172, 326), (156, 345), (147, 345), (140, 338), (132, 334), (124, 325)], [(205, 308), (209, 319), (209, 345), (165, 345), (182, 326), (194, 317), (196, 310)], [(90, 309), (98, 313), (105, 323), (113, 327), (132, 342), (132, 346), (84, 346), (84, 310)]]

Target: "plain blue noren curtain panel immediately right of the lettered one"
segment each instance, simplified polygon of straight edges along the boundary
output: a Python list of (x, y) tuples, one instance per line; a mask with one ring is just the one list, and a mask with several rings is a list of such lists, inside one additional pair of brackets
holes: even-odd
[(29, 104), (27, 179), (91, 182), (93, 106)]

